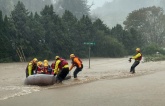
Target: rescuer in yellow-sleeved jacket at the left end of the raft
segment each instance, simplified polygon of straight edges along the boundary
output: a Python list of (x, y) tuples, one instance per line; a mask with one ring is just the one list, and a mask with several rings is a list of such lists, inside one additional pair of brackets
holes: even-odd
[(38, 59), (34, 58), (31, 60), (26, 67), (26, 77), (36, 74)]

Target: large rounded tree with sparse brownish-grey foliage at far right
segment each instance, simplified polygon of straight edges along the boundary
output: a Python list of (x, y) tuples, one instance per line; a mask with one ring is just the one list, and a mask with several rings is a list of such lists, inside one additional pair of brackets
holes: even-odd
[(147, 7), (130, 13), (124, 22), (125, 29), (141, 32), (146, 44), (155, 43), (163, 46), (165, 41), (165, 15), (160, 7)]

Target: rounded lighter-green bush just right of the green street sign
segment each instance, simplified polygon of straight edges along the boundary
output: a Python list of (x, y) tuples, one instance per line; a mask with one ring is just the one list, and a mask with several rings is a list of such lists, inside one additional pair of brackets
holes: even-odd
[(126, 50), (117, 39), (105, 35), (104, 31), (97, 31), (96, 45), (93, 46), (93, 55), (96, 57), (122, 57)]

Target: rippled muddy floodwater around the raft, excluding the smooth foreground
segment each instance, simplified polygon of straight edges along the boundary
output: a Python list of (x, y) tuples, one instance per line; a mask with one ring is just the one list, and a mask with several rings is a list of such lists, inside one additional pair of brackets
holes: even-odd
[[(70, 60), (68, 60), (70, 63)], [(92, 83), (102, 79), (122, 79), (129, 77), (138, 77), (164, 70), (164, 61), (161, 62), (141, 62), (136, 68), (136, 74), (130, 74), (129, 69), (132, 63), (128, 62), (128, 58), (92, 58), (89, 60), (82, 59), (84, 68), (78, 74), (79, 80), (73, 79), (73, 71), (70, 72), (72, 78), (63, 81), (62, 84), (54, 84), (51, 86), (32, 86), (25, 85), (25, 63), (0, 63), (0, 101), (14, 98), (18, 96), (28, 95), (42, 90), (58, 89), (59, 87), (75, 86), (85, 83)], [(53, 61), (49, 61), (51, 64)], [(69, 64), (70, 65), (70, 64)]]

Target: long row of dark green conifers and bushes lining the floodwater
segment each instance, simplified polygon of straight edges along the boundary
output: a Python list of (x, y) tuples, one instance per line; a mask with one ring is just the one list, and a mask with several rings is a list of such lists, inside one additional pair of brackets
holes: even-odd
[(133, 28), (124, 30), (116, 25), (111, 30), (100, 19), (92, 21), (88, 15), (77, 18), (68, 10), (60, 17), (53, 5), (45, 5), (39, 14), (18, 2), (10, 17), (3, 18), (0, 12), (0, 21), (1, 62), (22, 61), (23, 55), (25, 61), (34, 57), (53, 60), (56, 55), (69, 58), (71, 53), (85, 58), (89, 45), (84, 42), (96, 43), (91, 45), (92, 57), (122, 57), (143, 43)]

